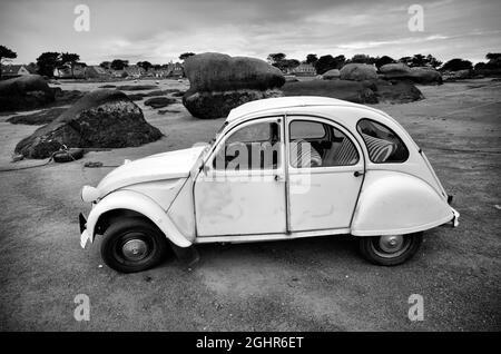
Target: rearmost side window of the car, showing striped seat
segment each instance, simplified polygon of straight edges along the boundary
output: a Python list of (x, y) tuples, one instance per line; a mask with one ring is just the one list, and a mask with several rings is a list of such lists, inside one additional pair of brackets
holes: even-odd
[(404, 163), (409, 150), (402, 139), (389, 127), (364, 118), (356, 126), (364, 139), (369, 158), (374, 164)]

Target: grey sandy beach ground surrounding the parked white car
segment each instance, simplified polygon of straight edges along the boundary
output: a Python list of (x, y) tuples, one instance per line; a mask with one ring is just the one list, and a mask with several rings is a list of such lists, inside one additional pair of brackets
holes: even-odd
[[(89, 91), (106, 83), (58, 87)], [(189, 82), (158, 86), (186, 90)], [(115, 166), (190, 147), (210, 140), (224, 121), (193, 118), (180, 99), (164, 115), (137, 101), (165, 135), (160, 140), (1, 173), (0, 331), (500, 331), (501, 82), (419, 88), (424, 100), (373, 107), (422, 147), (454, 196), (461, 224), (425, 233), (411, 262), (376, 267), (358, 257), (354, 239), (332, 236), (198, 246), (200, 263), (193, 269), (174, 258), (129, 275), (101, 266), (99, 237), (85, 250), (79, 246), (78, 214), (89, 210), (79, 193), (110, 168), (84, 164)], [(16, 144), (38, 126), (12, 125), (9, 117), (0, 117), (0, 169), (40, 164), (10, 163)], [(90, 297), (89, 322), (73, 318), (80, 293)], [(426, 321), (407, 319), (411, 294), (424, 296)]]

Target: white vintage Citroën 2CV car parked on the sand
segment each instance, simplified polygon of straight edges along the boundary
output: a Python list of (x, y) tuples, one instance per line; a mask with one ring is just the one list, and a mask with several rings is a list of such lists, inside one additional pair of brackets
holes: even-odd
[(353, 235), (363, 256), (396, 265), (422, 233), (459, 214), (422, 149), (389, 115), (323, 97), (252, 101), (230, 111), (210, 144), (126, 160), (80, 214), (80, 245), (139, 272), (169, 246)]

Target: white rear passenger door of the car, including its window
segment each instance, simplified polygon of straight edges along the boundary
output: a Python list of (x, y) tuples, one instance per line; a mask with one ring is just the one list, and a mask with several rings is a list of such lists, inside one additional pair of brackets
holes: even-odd
[(353, 136), (331, 120), (286, 118), (288, 230), (350, 228), (364, 158)]

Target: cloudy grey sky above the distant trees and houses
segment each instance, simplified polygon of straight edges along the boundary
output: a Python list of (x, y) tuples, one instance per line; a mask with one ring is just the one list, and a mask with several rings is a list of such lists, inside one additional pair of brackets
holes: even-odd
[[(88, 32), (73, 28), (80, 3), (90, 10)], [(413, 3), (424, 10), (423, 31), (409, 30)], [(77, 52), (87, 63), (165, 63), (185, 51), (299, 60), (310, 52), (433, 53), (477, 62), (501, 51), (500, 18), (499, 0), (0, 0), (0, 45), (19, 63), (43, 51)]]

